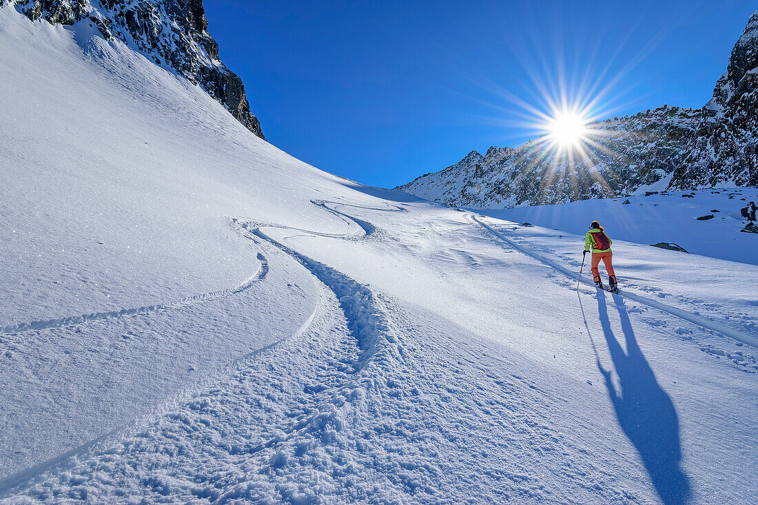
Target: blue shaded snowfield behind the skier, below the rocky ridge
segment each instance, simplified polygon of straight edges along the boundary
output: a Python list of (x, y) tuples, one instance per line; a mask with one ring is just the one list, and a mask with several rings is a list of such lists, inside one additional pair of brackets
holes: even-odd
[[(625, 201), (594, 199), (478, 212), (573, 234), (584, 234), (597, 219), (613, 240), (676, 243), (695, 254), (758, 265), (758, 235), (741, 232), (747, 221), (740, 214), (747, 202), (758, 202), (758, 188), (675, 191), (630, 196), (626, 205)], [(713, 218), (697, 219), (708, 215)], [(579, 252), (581, 247), (577, 248)]]

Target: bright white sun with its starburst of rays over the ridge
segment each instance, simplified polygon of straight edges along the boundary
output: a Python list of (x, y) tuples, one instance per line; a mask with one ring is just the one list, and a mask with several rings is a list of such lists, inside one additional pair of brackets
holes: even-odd
[(518, 65), (508, 68), (502, 83), (492, 76), (469, 76), (490, 94), (490, 99), (475, 98), (494, 112), (480, 120), (502, 127), (498, 145), (515, 148), (507, 180), (512, 187), (529, 188), (533, 205), (623, 194), (625, 177), (637, 166), (628, 146), (647, 136), (644, 121), (622, 124), (614, 116), (640, 100), (634, 95), (637, 83), (629, 77), (649, 48), (619, 64), (620, 48), (608, 53), (599, 39), (567, 47), (566, 40), (572, 38), (519, 45), (513, 52)]

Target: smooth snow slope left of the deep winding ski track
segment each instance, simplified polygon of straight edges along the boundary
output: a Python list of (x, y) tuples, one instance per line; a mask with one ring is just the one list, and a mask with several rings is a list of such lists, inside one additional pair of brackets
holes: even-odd
[[(8, 475), (292, 334), (313, 310), (309, 277), (282, 278), (230, 218), (340, 231), (343, 221), (310, 199), (355, 192), (88, 26), (0, 14), (0, 215), (9, 224), (0, 231), (0, 328), (54, 330), (2, 335), (4, 379), (20, 381), (5, 395), (3, 425), (55, 433), (3, 437)], [(263, 261), (270, 273), (248, 286)], [(87, 334), (55, 328), (91, 314)]]

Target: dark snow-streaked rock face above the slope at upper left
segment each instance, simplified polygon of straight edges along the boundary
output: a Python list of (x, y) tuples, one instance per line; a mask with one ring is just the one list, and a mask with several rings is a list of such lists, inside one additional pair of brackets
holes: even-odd
[(202, 0), (15, 0), (33, 20), (51, 24), (92, 21), (106, 39), (120, 39), (170, 67), (221, 102), (255, 135), (265, 139), (258, 118), (250, 112), (240, 77), (218, 59), (218, 44), (208, 34)]

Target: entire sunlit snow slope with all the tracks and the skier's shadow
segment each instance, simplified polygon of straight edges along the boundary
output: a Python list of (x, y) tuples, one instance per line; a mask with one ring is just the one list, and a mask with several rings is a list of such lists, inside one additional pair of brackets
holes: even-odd
[(756, 336), (754, 268), (615, 243), (711, 328), (576, 290), (581, 237), (325, 174), (91, 35), (0, 8), (0, 501), (753, 501), (713, 328)]

